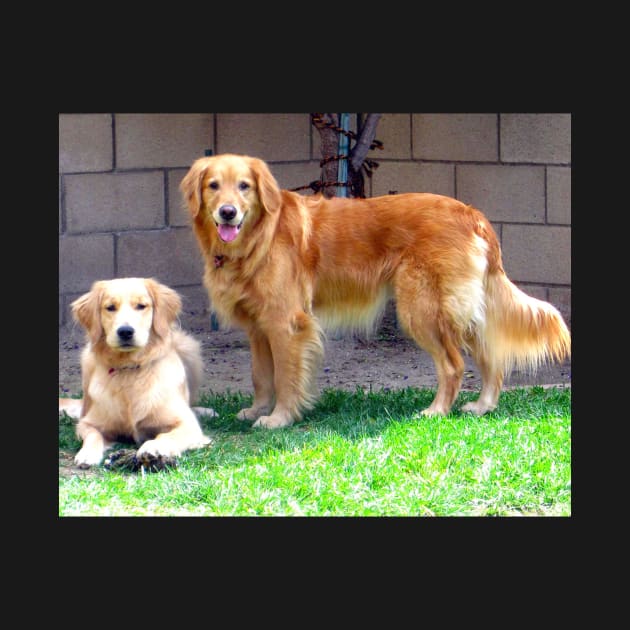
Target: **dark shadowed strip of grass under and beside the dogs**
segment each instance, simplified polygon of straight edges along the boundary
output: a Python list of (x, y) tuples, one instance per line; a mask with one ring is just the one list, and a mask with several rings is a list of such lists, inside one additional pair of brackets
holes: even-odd
[[(250, 395), (229, 391), (206, 393), (197, 404), (212, 407), (218, 413), (217, 417), (200, 420), (204, 432), (212, 437), (213, 442), (207, 448), (184, 453), (182, 463), (203, 467), (241, 465), (270, 451), (301, 450), (331, 437), (351, 441), (372, 438), (381, 435), (395, 422), (446, 421), (467, 415), (461, 413), (461, 406), (475, 400), (478, 392), (461, 392), (446, 418), (418, 417), (418, 412), (428, 407), (434, 396), (434, 390), (412, 387), (376, 392), (360, 388), (354, 392), (325, 389), (317, 404), (304, 414), (302, 420), (284, 429), (268, 430), (253, 428), (251, 422), (236, 418), (243, 407), (251, 405)], [(514, 389), (501, 393), (494, 412), (480, 418), (468, 417), (471, 423), (493, 423), (506, 417), (526, 420), (542, 415), (562, 415), (566, 413), (567, 406), (570, 407), (570, 401), (570, 390), (542, 387)], [(81, 446), (74, 427), (72, 419), (67, 416), (60, 418), (60, 452), (72, 456)], [(128, 447), (128, 444), (115, 444), (113, 450)]]

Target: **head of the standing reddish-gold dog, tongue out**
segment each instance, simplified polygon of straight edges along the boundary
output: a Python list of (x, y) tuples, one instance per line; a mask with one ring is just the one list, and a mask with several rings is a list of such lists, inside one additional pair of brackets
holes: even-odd
[(222, 154), (196, 160), (180, 184), (195, 219), (209, 217), (219, 239), (232, 243), (244, 226), (261, 213), (273, 214), (281, 204), (278, 183), (258, 158)]

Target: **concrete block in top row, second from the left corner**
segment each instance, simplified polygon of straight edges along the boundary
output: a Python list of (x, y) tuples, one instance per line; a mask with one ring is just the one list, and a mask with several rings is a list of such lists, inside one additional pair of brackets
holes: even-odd
[(116, 167), (187, 167), (214, 147), (214, 114), (115, 114)]

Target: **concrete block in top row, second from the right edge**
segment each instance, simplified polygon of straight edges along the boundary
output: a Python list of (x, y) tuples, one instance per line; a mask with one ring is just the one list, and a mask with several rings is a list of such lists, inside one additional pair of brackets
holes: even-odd
[(496, 114), (412, 114), (414, 159), (494, 162)]

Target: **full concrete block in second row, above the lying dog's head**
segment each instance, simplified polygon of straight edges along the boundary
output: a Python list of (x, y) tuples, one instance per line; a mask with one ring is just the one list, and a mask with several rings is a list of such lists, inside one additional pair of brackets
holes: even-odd
[(67, 175), (67, 231), (108, 232), (164, 226), (164, 174)]

